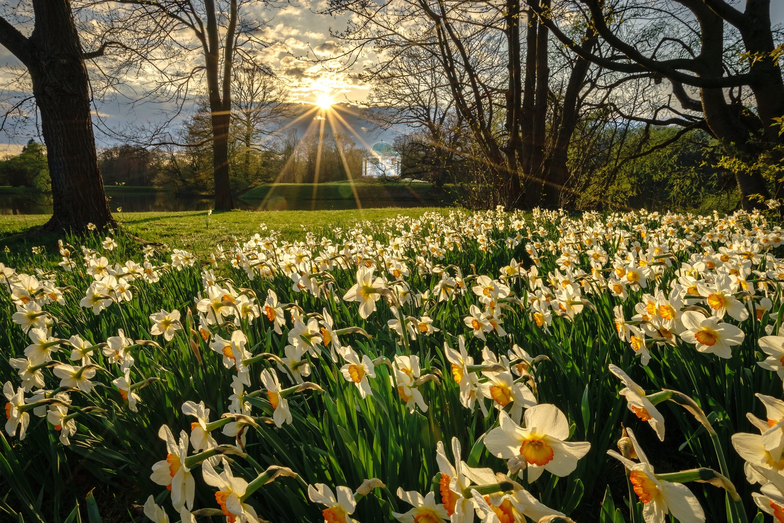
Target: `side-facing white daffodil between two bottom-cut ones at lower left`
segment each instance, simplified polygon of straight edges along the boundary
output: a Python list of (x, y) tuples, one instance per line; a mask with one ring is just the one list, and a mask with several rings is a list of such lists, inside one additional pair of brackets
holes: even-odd
[(194, 506), (196, 483), (191, 469), (185, 466), (185, 459), (188, 457), (188, 435), (185, 430), (180, 430), (178, 442), (169, 426), (162, 425), (158, 430), (158, 438), (166, 442), (167, 454), (166, 459), (154, 463), (150, 479), (172, 491), (172, 505), (177, 510), (183, 506), (191, 510)]

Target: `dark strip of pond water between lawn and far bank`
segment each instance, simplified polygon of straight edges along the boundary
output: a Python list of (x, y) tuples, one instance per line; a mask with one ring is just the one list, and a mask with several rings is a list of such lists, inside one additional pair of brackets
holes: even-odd
[[(109, 208), (112, 212), (174, 212), (174, 211), (206, 211), (212, 209), (215, 202), (203, 196), (186, 196), (168, 194), (162, 191), (125, 191), (115, 187), (107, 187)], [(437, 205), (427, 198), (399, 198), (387, 194), (368, 195), (361, 197), (363, 208), (373, 207), (423, 207)], [(357, 209), (354, 198), (302, 198), (301, 194), (268, 194), (261, 199), (234, 198), (234, 207), (249, 211), (285, 211), (285, 210), (347, 210)], [(52, 198), (26, 191), (0, 189), (0, 214), (51, 214)]]

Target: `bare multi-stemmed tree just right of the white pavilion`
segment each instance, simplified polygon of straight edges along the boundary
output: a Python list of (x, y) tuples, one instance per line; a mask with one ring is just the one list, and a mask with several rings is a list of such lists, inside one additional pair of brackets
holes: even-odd
[[(394, 78), (394, 71), (403, 68), (413, 49), (426, 56), (421, 63), (432, 60), (439, 89), (448, 93), (448, 103), (466, 129), (463, 138), (470, 140), (463, 152), (473, 165), (469, 185), (490, 187), (485, 205), (558, 204), (592, 67), (575, 53), (550, 49), (548, 27), (533, 16), (535, 9), (549, 9), (550, 0), (524, 5), (518, 0), (382, 5), (332, 0), (329, 5), (334, 13), (354, 16), (339, 36), (353, 42), (355, 51), (373, 45), (379, 63), (368, 70), (372, 79), (404, 83)], [(586, 49), (597, 45), (592, 33), (583, 27)], [(569, 64), (558, 68), (557, 76), (550, 64), (554, 55)], [(418, 93), (417, 82), (426, 83), (417, 70), (401, 95)]]

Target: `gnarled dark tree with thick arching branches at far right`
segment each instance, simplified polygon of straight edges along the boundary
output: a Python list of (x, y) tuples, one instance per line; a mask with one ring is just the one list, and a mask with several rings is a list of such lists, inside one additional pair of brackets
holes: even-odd
[[(784, 116), (777, 53), (782, 48), (775, 45), (770, 0), (747, 0), (743, 11), (724, 0), (572, 0), (571, 5), (568, 20), (593, 27), (612, 56), (583, 49), (550, 11), (541, 5), (534, 10), (578, 56), (622, 74), (666, 79), (681, 111), (702, 113), (710, 133), (744, 162), (781, 149), (784, 138), (772, 125)], [(650, 27), (664, 30), (652, 35)], [(747, 209), (762, 205), (754, 195), (770, 194), (758, 169), (739, 169), (735, 180)], [(784, 196), (779, 180), (776, 195)]]

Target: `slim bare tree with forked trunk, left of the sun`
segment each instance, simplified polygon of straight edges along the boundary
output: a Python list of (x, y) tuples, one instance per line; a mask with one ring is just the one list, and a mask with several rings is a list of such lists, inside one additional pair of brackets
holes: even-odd
[[(245, 20), (242, 8), (252, 0), (112, 0), (113, 9), (98, 11), (100, 24), (85, 24), (93, 31), (97, 49), (89, 56), (107, 56), (114, 71), (138, 67), (140, 60), (155, 68), (158, 78), (147, 78), (155, 96), (169, 96), (182, 104), (194, 78), (202, 73), (209, 101), (212, 173), (215, 208), (231, 209), (229, 135), (232, 84), (241, 62), (255, 62), (255, 49), (267, 45), (256, 38), (263, 21)], [(89, 8), (96, 3), (85, 2)], [(109, 3), (103, 0), (103, 3)], [(91, 28), (92, 27), (92, 28)], [(111, 53), (109, 50), (111, 49)], [(200, 64), (191, 64), (188, 58)], [(161, 64), (172, 65), (161, 67)], [(181, 71), (175, 64), (185, 64)], [(118, 76), (122, 73), (115, 73)], [(167, 89), (172, 89), (165, 95)]]

